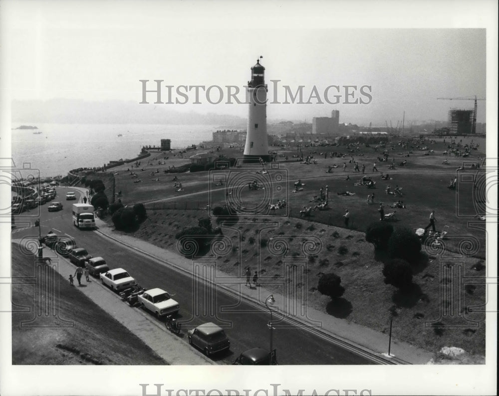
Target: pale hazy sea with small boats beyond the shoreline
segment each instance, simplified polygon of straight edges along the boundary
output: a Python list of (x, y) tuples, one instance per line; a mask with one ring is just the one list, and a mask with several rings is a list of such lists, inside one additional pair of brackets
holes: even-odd
[[(155, 124), (12, 124), (36, 126), (37, 130), (11, 130), (11, 155), (17, 169), (40, 177), (66, 175), (79, 167), (102, 166), (111, 160), (136, 157), (142, 146), (183, 148), (212, 140), (212, 132), (224, 129), (210, 125)], [(33, 132), (41, 132), (35, 134)], [(119, 136), (121, 134), (121, 136)]]

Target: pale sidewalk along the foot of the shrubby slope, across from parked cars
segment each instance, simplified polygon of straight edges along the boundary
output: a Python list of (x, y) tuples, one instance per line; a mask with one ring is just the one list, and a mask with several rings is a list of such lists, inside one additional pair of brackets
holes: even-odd
[[(177, 270), (185, 273), (193, 273), (193, 261), (185, 258), (177, 253), (159, 248), (146, 241), (134, 238), (128, 235), (122, 235), (113, 230), (100, 219), (95, 220), (98, 227), (97, 233), (102, 234), (104, 237), (110, 238), (114, 241), (122, 243), (134, 251), (138, 251), (146, 256), (149, 256), (156, 261), (169, 265)], [(229, 293), (241, 295), (247, 301), (253, 302), (258, 306), (264, 306), (265, 298), (269, 294), (273, 294), (276, 304), (272, 307), (273, 310), (278, 309), (282, 312), (282, 307), (292, 306), (291, 301), (285, 301), (282, 295), (271, 292), (264, 287), (257, 287), (255, 289), (244, 286), (245, 279), (234, 275), (229, 275), (216, 270), (215, 279), (217, 279), (217, 286), (223, 288)], [(223, 279), (222, 282), (218, 280)], [(210, 281), (209, 279), (207, 279)], [(325, 312), (321, 312), (312, 308), (307, 308), (307, 319), (303, 320), (302, 317), (290, 317), (290, 322), (294, 325), (305, 325), (313, 327), (315, 332), (322, 333), (326, 336), (332, 336), (344, 343), (353, 345), (354, 347), (374, 354), (388, 362), (398, 364), (426, 364), (433, 357), (431, 352), (417, 348), (405, 342), (401, 342), (392, 338), (391, 343), (391, 357), (388, 357), (388, 343), (389, 335), (379, 333), (367, 327), (348, 322), (344, 319), (338, 319)], [(278, 315), (276, 315), (278, 316)]]

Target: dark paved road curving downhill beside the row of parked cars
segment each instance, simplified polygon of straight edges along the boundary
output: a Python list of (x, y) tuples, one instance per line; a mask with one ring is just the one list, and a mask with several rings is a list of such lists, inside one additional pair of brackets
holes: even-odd
[[(65, 200), (67, 191), (71, 189), (57, 188), (58, 196), (55, 201), (63, 203), (62, 211), (48, 213), (48, 204), (40, 207), (42, 235), (46, 235), (49, 230), (53, 230), (58, 235), (70, 235), (74, 237), (78, 247), (85, 247), (93, 257), (104, 257), (110, 268), (127, 269), (142, 286), (161, 287), (175, 294), (174, 298), (181, 306), (179, 321), (186, 327), (195, 327), (208, 321), (225, 327), (231, 339), (231, 351), (215, 356), (216, 362), (231, 364), (240, 352), (248, 348), (255, 346), (268, 348), (268, 311), (259, 310), (219, 289), (214, 290), (205, 282), (197, 281), (192, 276), (187, 276), (185, 273), (103, 239), (93, 231), (77, 230), (71, 220), (71, 206), (75, 201)], [(79, 197), (80, 193), (77, 190), (73, 191)], [(29, 215), (29, 212), (23, 213), (23, 215), (26, 214)], [(16, 218), (16, 223), (18, 220)], [(35, 228), (20, 229), (15, 231), (13, 238), (22, 238), (24, 235), (37, 234), (37, 232)], [(195, 295), (200, 297), (193, 297)], [(210, 301), (213, 303), (210, 304)], [(116, 299), (116, 304), (124, 303)], [(232, 312), (222, 312), (221, 307), (237, 307), (237, 309), (230, 309)], [(130, 307), (129, 309), (140, 308)], [(157, 319), (154, 318), (154, 320)], [(187, 337), (184, 337), (182, 342), (187, 343)], [(277, 350), (279, 364), (372, 364), (366, 357), (343, 349), (327, 339), (300, 328), (276, 328), (273, 347)]]

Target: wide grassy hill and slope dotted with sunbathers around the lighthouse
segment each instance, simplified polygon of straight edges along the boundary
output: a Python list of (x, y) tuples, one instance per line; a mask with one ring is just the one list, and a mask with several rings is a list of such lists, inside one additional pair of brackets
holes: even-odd
[[(469, 139), (470, 140), (470, 139)], [(395, 149), (391, 149), (392, 143), (387, 144), (390, 150), (389, 162), (379, 162), (376, 157), (381, 155), (374, 147), (361, 146), (354, 153), (349, 152), (345, 146), (333, 147), (304, 147), (303, 154), (313, 155), (317, 164), (305, 165), (292, 160), (291, 155), (296, 153), (296, 148), (275, 148), (279, 153), (288, 155), (288, 161), (279, 162), (279, 167), (287, 170), (288, 178), (275, 182), (268, 190), (250, 191), (246, 185), (236, 186), (225, 184), (216, 187), (209, 172), (182, 173), (177, 174), (182, 181), (183, 192), (176, 192), (173, 187), (173, 175), (164, 174), (162, 168), (153, 164), (147, 166), (147, 170), (141, 172), (141, 183), (133, 183), (127, 175), (128, 172), (119, 170), (116, 176), (116, 190), (122, 190), (123, 203), (160, 200), (155, 204), (161, 208), (163, 202), (165, 208), (175, 203), (177, 208), (197, 207), (203, 208), (209, 202), (212, 208), (216, 205), (223, 206), (226, 201), (231, 201), (226, 193), (232, 191), (245, 208), (256, 207), (263, 203), (276, 203), (278, 199), (286, 199), (288, 211), (268, 214), (268, 216), (255, 217), (249, 213), (242, 213), (237, 221), (223, 223), (223, 234), (230, 238), (232, 249), (223, 256), (217, 257), (217, 265), (220, 269), (237, 275), (243, 275), (245, 265), (259, 273), (259, 281), (265, 287), (283, 292), (282, 285), (276, 285), (275, 279), (284, 276), (283, 268), (290, 259), (303, 259), (307, 263), (306, 283), (292, 284), (293, 279), (286, 282), (290, 289), (295, 292), (305, 293), (309, 306), (323, 310), (330, 315), (344, 318), (346, 320), (386, 332), (389, 328), (390, 316), (393, 315), (393, 335), (400, 340), (408, 341), (430, 351), (438, 351), (442, 346), (461, 347), (468, 352), (485, 354), (485, 314), (479, 309), (467, 310), (466, 314), (444, 315), (444, 308), (452, 307), (455, 301), (450, 301), (445, 295), (446, 290), (451, 290), (460, 284), (459, 279), (451, 275), (442, 275), (442, 263), (447, 260), (458, 260), (463, 266), (463, 276), (476, 277), (483, 280), (486, 270), (485, 262), (473, 257), (459, 256), (458, 254), (445, 251), (442, 256), (436, 256), (435, 252), (427, 251), (426, 260), (422, 259), (413, 268), (414, 287), (410, 292), (402, 294), (398, 290), (384, 283), (381, 273), (383, 260), (382, 254), (376, 253), (371, 244), (365, 241), (365, 234), (355, 230), (347, 230), (337, 227), (342, 225), (342, 215), (345, 209), (351, 213), (351, 225), (359, 230), (364, 230), (371, 222), (379, 221), (379, 203), (385, 205), (385, 213), (393, 209), (389, 205), (401, 199), (406, 205), (405, 209), (397, 211), (397, 221), (394, 227), (408, 227), (410, 229), (426, 227), (429, 223), (429, 215), (435, 210), (437, 229), (442, 230), (444, 225), (449, 226), (449, 235), (461, 237), (473, 237), (480, 244), (485, 244), (485, 231), (470, 227), (468, 222), (473, 220), (472, 216), (480, 212), (482, 208), (476, 201), (477, 196), (483, 196), (481, 191), (484, 186), (480, 183), (477, 190), (473, 189), (473, 182), (458, 184), (459, 195), (456, 191), (447, 188), (449, 180), (457, 176), (456, 169), (463, 162), (479, 162), (479, 157), (484, 157), (483, 151), (473, 150), (470, 157), (446, 157), (442, 152), (447, 149), (449, 139), (444, 144), (441, 139), (437, 143), (424, 145), (433, 153), (425, 155), (427, 150), (418, 150), (416, 147), (402, 148), (397, 145), (399, 140), (392, 143)], [(459, 141), (459, 139), (458, 139)], [(477, 140), (475, 140), (477, 141)], [(465, 140), (463, 140), (463, 144)], [(413, 145), (416, 145), (414, 143)], [(481, 142), (481, 149), (485, 150), (485, 142)], [(409, 150), (413, 151), (409, 157), (404, 157)], [(313, 151), (317, 151), (314, 153)], [(376, 189), (366, 189), (362, 186), (354, 186), (362, 174), (353, 172), (353, 165), (348, 163), (349, 156), (345, 158), (333, 157), (329, 154), (324, 159), (324, 152), (343, 152), (354, 155), (360, 164), (366, 164), (368, 176), (373, 176), (376, 181)], [(222, 150), (227, 156), (238, 156), (236, 151), (228, 152)], [(322, 154), (320, 154), (322, 152)], [(362, 155), (361, 155), (362, 154)], [(395, 158), (396, 169), (388, 170), (392, 158)], [(443, 159), (449, 158), (449, 165), (442, 164)], [(405, 166), (398, 166), (402, 159), (407, 160)], [(172, 166), (173, 162), (181, 159), (169, 159), (163, 168)], [(185, 160), (184, 160), (185, 161)], [(347, 171), (343, 171), (342, 164), (347, 163)], [(376, 162), (380, 172), (372, 172), (372, 164)], [(185, 163), (185, 162), (184, 162)], [(337, 164), (333, 173), (326, 173), (328, 165)], [(176, 164), (176, 166), (178, 166)], [(149, 176), (151, 170), (159, 169), (157, 176)], [(243, 167), (234, 169), (235, 172), (248, 172), (251, 177), (258, 167)], [(134, 169), (134, 171), (136, 171)], [(139, 169), (140, 171), (140, 169)], [(381, 171), (389, 173), (391, 180), (381, 180)], [(220, 171), (220, 174), (227, 171)], [(463, 174), (473, 175), (476, 169), (466, 168), (460, 171)], [(138, 173), (138, 172), (137, 172)], [(271, 171), (269, 171), (271, 174)], [(346, 175), (350, 180), (344, 180)], [(483, 170), (478, 171), (478, 175)], [(153, 178), (160, 181), (152, 181)], [(459, 177), (459, 175), (458, 175)], [(301, 179), (305, 183), (304, 189), (298, 193), (291, 193), (293, 183)], [(385, 194), (385, 188), (390, 185), (392, 190), (396, 185), (403, 187), (404, 195), (399, 198), (394, 195)], [(275, 188), (276, 185), (280, 189)], [(303, 206), (313, 206), (310, 202), (314, 195), (319, 194), (320, 187), (328, 186), (329, 206), (327, 212), (322, 216), (328, 216), (329, 224), (321, 224), (310, 221), (310, 219), (296, 218), (297, 212)], [(140, 188), (138, 188), (140, 187)], [(212, 189), (211, 197), (208, 189)], [(337, 192), (354, 192), (352, 196), (338, 195)], [(367, 204), (367, 195), (375, 193), (375, 203)], [(459, 199), (458, 199), (459, 197)], [(162, 201), (161, 201), (162, 200)], [(195, 205), (197, 203), (197, 206)], [(194, 206), (193, 206), (194, 205)], [(477, 209), (477, 205), (479, 206)], [(151, 210), (153, 206), (148, 204), (148, 218), (142, 223), (135, 236), (145, 239), (157, 246), (166, 249), (177, 249), (175, 234), (180, 230), (197, 225), (198, 219), (209, 215), (207, 211), (199, 210)], [(288, 216), (289, 210), (291, 216)], [(212, 216), (213, 218), (213, 216)], [(212, 223), (215, 225), (215, 218)], [(485, 228), (485, 226), (484, 226)], [(305, 257), (300, 250), (301, 241), (307, 237), (315, 237), (320, 240), (321, 250), (317, 257)], [(271, 238), (280, 238), (288, 246), (285, 254), (275, 255), (269, 250), (268, 241)], [(340, 250), (340, 247), (343, 249)], [(210, 255), (210, 253), (208, 253)], [(476, 264), (480, 268), (475, 269)], [(334, 302), (328, 297), (321, 295), (317, 290), (317, 281), (322, 273), (335, 272), (342, 279), (345, 294)], [(463, 306), (481, 306), (485, 303), (485, 286), (481, 284), (465, 285), (463, 291)], [(442, 322), (445, 328), (432, 328), (425, 326), (425, 322)], [(476, 326), (476, 324), (479, 326)]]

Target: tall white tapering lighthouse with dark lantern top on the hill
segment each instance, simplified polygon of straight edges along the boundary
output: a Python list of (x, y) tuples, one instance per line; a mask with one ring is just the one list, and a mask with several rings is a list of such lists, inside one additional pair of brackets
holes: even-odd
[[(261, 58), (261, 56), (260, 56)], [(259, 158), (270, 161), (267, 142), (267, 85), (264, 79), (265, 68), (256, 60), (251, 67), (251, 81), (248, 82), (249, 101), (248, 129), (243, 162), (258, 162)]]

